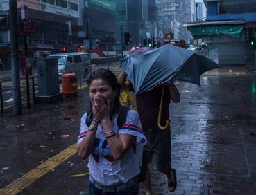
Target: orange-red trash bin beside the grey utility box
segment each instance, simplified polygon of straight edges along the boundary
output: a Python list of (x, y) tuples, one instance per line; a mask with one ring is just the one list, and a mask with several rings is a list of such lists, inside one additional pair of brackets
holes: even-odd
[(62, 89), (64, 97), (78, 95), (77, 78), (75, 73), (62, 75)]

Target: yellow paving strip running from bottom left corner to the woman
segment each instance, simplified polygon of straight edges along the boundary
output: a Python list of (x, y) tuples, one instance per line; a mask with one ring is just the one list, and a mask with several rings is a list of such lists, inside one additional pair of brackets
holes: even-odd
[(7, 195), (18, 194), (19, 192), (22, 192), (22, 189), (25, 189), (26, 187), (34, 183), (35, 180), (44, 176), (53, 168), (63, 163), (74, 154), (76, 154), (76, 144), (71, 145), (67, 149), (61, 151), (59, 154), (56, 154), (56, 156), (49, 158), (49, 160), (46, 160), (44, 163), (38, 165), (31, 171), (28, 171), (28, 173), (24, 174), (24, 176), (22, 176), (21, 178), (18, 178), (3, 189), (0, 189), (0, 194)]

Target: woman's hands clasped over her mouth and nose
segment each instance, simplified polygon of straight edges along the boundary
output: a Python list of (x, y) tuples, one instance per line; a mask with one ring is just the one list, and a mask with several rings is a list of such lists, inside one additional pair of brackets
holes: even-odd
[(110, 120), (110, 100), (105, 100), (103, 95), (97, 94), (92, 100), (92, 113), (94, 120)]

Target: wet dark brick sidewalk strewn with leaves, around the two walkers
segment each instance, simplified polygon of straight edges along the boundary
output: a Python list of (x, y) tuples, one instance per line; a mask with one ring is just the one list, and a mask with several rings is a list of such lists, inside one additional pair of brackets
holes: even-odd
[[(178, 177), (172, 194), (255, 194), (255, 66), (210, 71), (201, 88), (177, 86), (181, 102), (170, 107)], [(86, 160), (74, 145), (87, 94), (83, 89), (78, 97), (35, 105), (20, 116), (0, 115), (0, 194), (88, 194)], [(151, 170), (154, 194), (168, 194), (154, 161)]]

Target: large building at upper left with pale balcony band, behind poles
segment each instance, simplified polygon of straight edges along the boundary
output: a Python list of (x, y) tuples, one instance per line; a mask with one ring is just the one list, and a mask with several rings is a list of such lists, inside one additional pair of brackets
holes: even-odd
[[(10, 68), (9, 1), (0, 1), (0, 17), (5, 18), (5, 28), (0, 29), (0, 57), (5, 68)], [(35, 32), (27, 36), (28, 55), (33, 59), (40, 53), (58, 53), (65, 46), (73, 48), (78, 44), (78, 34), (71, 30), (80, 17), (78, 0), (24, 0), (17, 1), (17, 20), (21, 23), (21, 7), (26, 6), (27, 19), (35, 25)], [(24, 53), (24, 34), (19, 26), (19, 55)]]

